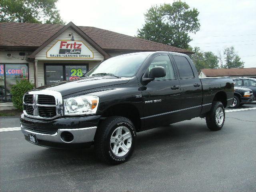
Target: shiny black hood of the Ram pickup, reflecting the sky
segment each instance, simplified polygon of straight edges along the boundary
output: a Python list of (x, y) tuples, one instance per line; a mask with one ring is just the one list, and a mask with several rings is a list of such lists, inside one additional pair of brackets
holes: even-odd
[(58, 83), (53, 83), (49, 85), (45, 85), (35, 90), (54, 90), (58, 91), (62, 94), (62, 96), (66, 96), (69, 94), (73, 94), (80, 91), (90, 90), (94, 88), (100, 88), (105, 86), (117, 85), (117, 84), (124, 84), (129, 82), (130, 78), (108, 78), (104, 76), (100, 77), (84, 77), (79, 78), (76, 80), (68, 80), (62, 81)]

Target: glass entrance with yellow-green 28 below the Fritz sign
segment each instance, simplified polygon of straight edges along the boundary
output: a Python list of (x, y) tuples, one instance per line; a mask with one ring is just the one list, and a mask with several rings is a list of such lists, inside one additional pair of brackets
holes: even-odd
[(88, 64), (44, 64), (44, 84), (79, 78), (88, 68)]

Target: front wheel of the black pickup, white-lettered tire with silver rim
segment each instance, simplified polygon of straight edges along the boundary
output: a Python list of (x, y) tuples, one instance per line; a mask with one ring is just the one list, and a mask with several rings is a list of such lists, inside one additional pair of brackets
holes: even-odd
[(112, 116), (97, 128), (94, 145), (100, 160), (108, 164), (126, 162), (136, 143), (133, 123), (122, 116)]

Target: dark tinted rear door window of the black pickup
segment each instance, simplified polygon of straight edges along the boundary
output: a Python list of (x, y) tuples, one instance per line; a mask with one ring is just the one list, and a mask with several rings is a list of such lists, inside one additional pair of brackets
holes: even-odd
[(180, 78), (194, 78), (194, 73), (186, 57), (178, 55), (172, 56), (178, 67)]

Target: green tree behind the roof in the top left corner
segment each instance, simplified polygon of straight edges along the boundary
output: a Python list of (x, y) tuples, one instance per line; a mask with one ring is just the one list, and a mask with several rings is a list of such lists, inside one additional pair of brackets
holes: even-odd
[(65, 24), (56, 9), (58, 0), (1, 0), (0, 22)]

